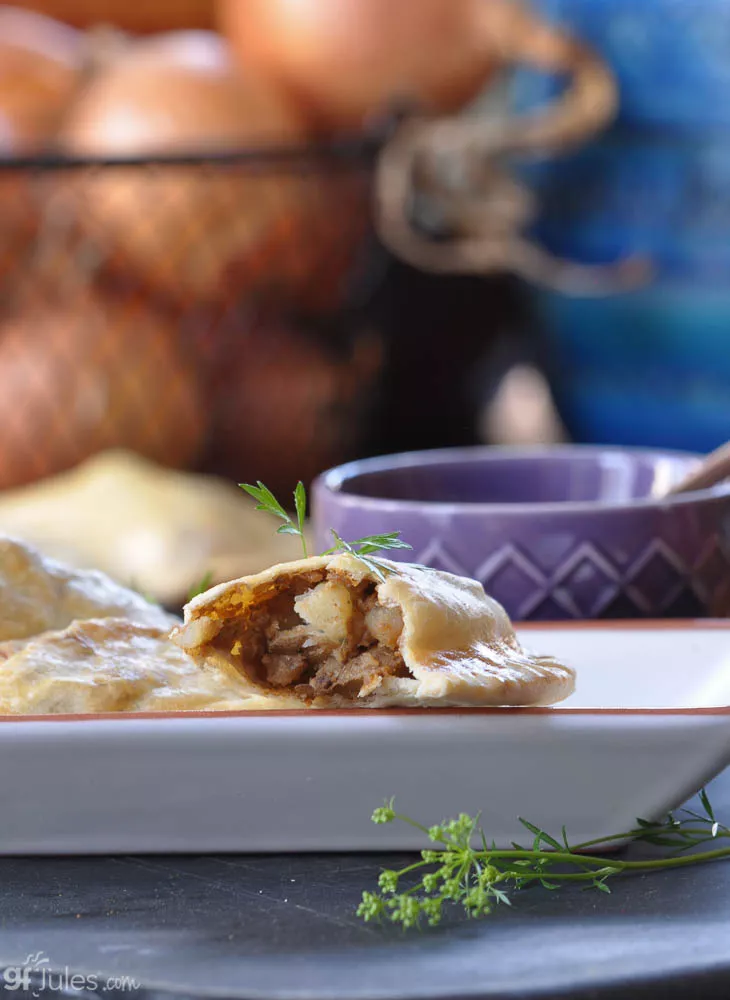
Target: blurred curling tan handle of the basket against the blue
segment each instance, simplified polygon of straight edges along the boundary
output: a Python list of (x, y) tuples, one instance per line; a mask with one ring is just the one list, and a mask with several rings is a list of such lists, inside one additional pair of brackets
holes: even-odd
[[(530, 192), (504, 164), (508, 154), (562, 152), (605, 126), (616, 85), (592, 50), (537, 20), (512, 0), (478, 0), (483, 34), (499, 62), (570, 74), (561, 97), (542, 111), (512, 117), (414, 118), (381, 151), (375, 174), (375, 224), (383, 243), (425, 271), (512, 271), (570, 294), (603, 295), (648, 280), (644, 258), (583, 265), (550, 255), (522, 233), (535, 218)], [(500, 14), (501, 16), (496, 16)], [(438, 204), (448, 239), (434, 240), (411, 218), (413, 194)]]

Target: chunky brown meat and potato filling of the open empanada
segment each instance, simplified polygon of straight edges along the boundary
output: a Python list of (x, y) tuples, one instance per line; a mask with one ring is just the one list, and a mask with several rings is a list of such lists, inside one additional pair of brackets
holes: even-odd
[(386, 677), (411, 676), (399, 645), (403, 618), (378, 602), (376, 584), (316, 571), (274, 584), (246, 616), (229, 620), (215, 645), (254, 682), (305, 701), (362, 698)]

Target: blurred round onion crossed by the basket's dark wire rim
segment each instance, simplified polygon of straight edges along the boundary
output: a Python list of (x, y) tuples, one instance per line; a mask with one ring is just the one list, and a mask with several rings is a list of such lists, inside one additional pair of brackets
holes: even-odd
[[(96, 157), (205, 155), (296, 146), (299, 116), (269, 86), (239, 73), (213, 33), (133, 45), (77, 101), (59, 144)], [(175, 299), (225, 294), (229, 272), (257, 280), (257, 255), (302, 207), (295, 175), (247, 166), (105, 168), (69, 197), (87, 229), (140, 279)]]

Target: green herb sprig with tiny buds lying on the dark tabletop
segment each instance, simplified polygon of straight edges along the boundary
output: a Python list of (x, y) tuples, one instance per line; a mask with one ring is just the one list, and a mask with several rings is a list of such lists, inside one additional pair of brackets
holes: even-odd
[[(570, 844), (565, 827), (558, 839), (533, 823), (520, 819), (534, 840), (532, 847), (513, 844), (498, 850), (488, 844), (478, 816), (462, 813), (456, 819), (425, 827), (408, 816), (397, 813), (393, 799), (376, 809), (373, 823), (400, 820), (415, 827), (437, 845), (421, 851), (421, 860), (399, 871), (380, 873), (379, 892), (364, 892), (357, 914), (363, 920), (390, 921), (404, 928), (417, 927), (424, 921), (440, 923), (445, 906), (461, 905), (470, 917), (484, 917), (500, 903), (511, 905), (507, 888), (522, 889), (541, 885), (557, 890), (572, 883), (586, 889), (610, 893), (609, 879), (628, 872), (660, 871), (730, 858), (730, 847), (684, 854), (708, 842), (730, 839), (730, 827), (719, 823), (707, 796), (700, 793), (702, 812), (682, 809), (678, 816), (669, 814), (663, 822), (637, 820), (627, 833), (601, 837), (600, 840)], [(477, 840), (481, 846), (474, 848)], [(639, 861), (622, 861), (585, 853), (597, 844), (610, 841), (639, 841), (670, 850), (669, 856)], [(419, 876), (414, 882), (414, 876)], [(402, 882), (409, 883), (401, 889)]]

